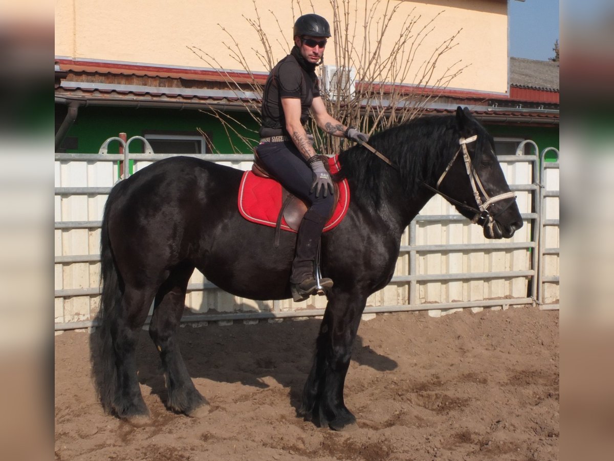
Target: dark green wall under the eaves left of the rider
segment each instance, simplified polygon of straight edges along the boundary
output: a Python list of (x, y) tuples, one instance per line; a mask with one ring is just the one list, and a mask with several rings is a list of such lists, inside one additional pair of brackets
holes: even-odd
[[(249, 114), (230, 112), (230, 115), (244, 127), (236, 130), (243, 136), (257, 138), (258, 125)], [(227, 133), (222, 123), (211, 114), (193, 109), (135, 109), (118, 107), (85, 107), (79, 108), (77, 119), (68, 131), (67, 136), (77, 138), (77, 149), (67, 149), (68, 153), (98, 154), (101, 144), (107, 138), (126, 133), (131, 136), (142, 136), (145, 130), (163, 130), (179, 132), (195, 132), (200, 128), (211, 133), (214, 149), (222, 154), (252, 152), (252, 148), (239, 140), (235, 133)], [(249, 130), (255, 130), (250, 132)], [(229, 138), (230, 135), (230, 138)], [(234, 143), (235, 148), (231, 144)], [(254, 145), (257, 141), (254, 141)], [(119, 143), (111, 143), (109, 153), (117, 154)], [(134, 141), (130, 144), (133, 153), (142, 152), (142, 143)]]

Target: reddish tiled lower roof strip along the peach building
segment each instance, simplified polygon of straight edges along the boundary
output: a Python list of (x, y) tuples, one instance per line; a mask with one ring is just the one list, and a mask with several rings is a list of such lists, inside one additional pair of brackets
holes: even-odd
[[(106, 61), (72, 60), (56, 58), (56, 96), (70, 99), (122, 101), (134, 103), (179, 103), (185, 107), (202, 104), (228, 104), (241, 106), (251, 101), (259, 102), (260, 94), (253, 84), (262, 85), (266, 73), (245, 71), (219, 71), (203, 68), (176, 68), (138, 63), (116, 63)], [(231, 79), (238, 84), (237, 90), (229, 89), (225, 82)], [(357, 82), (360, 89), (366, 84)], [(447, 112), (453, 106), (474, 106), (473, 112), (488, 117), (510, 117), (535, 120), (558, 121), (558, 107), (540, 112), (536, 104), (548, 104), (551, 108), (559, 104), (558, 90), (537, 89), (511, 85), (510, 95), (475, 90), (427, 89), (414, 85), (373, 85), (373, 90), (422, 95), (434, 92), (441, 99), (433, 104), (430, 112)], [(243, 101), (243, 103), (241, 103)], [(440, 101), (445, 101), (441, 103)], [(518, 104), (515, 104), (518, 103)], [(521, 104), (526, 103), (526, 104)], [(439, 107), (437, 107), (439, 106)], [(499, 107), (497, 107), (499, 106)], [(514, 106), (516, 106), (515, 110)], [(524, 107), (523, 107), (524, 106)], [(535, 107), (535, 110), (531, 109)], [(484, 108), (481, 110), (481, 108)], [(543, 121), (542, 121), (543, 122)]]

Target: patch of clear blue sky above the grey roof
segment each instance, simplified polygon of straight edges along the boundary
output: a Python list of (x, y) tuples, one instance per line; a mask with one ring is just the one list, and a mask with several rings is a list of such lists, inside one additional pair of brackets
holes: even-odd
[(559, 38), (559, 0), (508, 1), (510, 56), (546, 61)]

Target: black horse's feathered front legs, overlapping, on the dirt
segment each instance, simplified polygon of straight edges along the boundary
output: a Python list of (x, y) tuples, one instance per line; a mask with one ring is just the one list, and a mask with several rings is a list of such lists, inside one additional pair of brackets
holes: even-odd
[(343, 387), (366, 299), (335, 288), (330, 293), (300, 410), (321, 427), (344, 430), (356, 425), (356, 417), (345, 406)]

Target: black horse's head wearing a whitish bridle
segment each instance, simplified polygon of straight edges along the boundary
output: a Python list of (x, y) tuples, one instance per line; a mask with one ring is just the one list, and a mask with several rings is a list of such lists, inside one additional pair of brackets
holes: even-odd
[(523, 219), (510, 191), (492, 136), (469, 109), (456, 110), (458, 150), (435, 189), (463, 216), (484, 228), (486, 238), (510, 238)]

